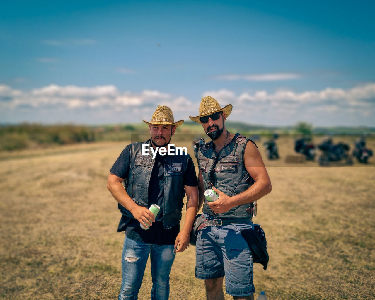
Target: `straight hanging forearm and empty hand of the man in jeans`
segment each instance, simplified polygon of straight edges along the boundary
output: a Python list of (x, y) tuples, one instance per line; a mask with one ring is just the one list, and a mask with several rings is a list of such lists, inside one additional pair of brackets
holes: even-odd
[(191, 228), (193, 227), (196, 211), (198, 208), (198, 186), (184, 186), (186, 191), (186, 216), (185, 223), (180, 233), (177, 235), (174, 246), (178, 249), (176, 252), (183, 252), (189, 245), (189, 236)]

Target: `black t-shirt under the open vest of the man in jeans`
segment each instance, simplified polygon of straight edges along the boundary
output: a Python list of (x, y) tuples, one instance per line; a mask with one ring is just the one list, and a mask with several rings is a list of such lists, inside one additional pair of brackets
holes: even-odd
[[(165, 155), (167, 156), (167, 155)], [(148, 207), (151, 204), (162, 206), (164, 198), (164, 157), (156, 154), (154, 166), (151, 172), (150, 183), (148, 185)], [(116, 162), (110, 169), (110, 172), (120, 178), (126, 178), (130, 169), (130, 145), (118, 156)], [(191, 157), (188, 160), (186, 172), (184, 173), (183, 184), (186, 186), (197, 186), (195, 168)], [(136, 219), (122, 216), (117, 231), (126, 232), (126, 236), (132, 240), (143, 241), (145, 243), (156, 245), (173, 245), (177, 234), (180, 232), (180, 225), (171, 229), (166, 229), (162, 223), (163, 211), (160, 210), (156, 216), (155, 222), (149, 229), (144, 230), (139, 226)]]

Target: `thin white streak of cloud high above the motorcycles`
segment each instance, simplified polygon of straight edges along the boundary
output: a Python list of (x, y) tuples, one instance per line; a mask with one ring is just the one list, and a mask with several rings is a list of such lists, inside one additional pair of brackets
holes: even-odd
[(247, 80), (247, 81), (279, 81), (302, 78), (297, 73), (268, 73), (268, 74), (227, 74), (217, 76), (218, 80)]

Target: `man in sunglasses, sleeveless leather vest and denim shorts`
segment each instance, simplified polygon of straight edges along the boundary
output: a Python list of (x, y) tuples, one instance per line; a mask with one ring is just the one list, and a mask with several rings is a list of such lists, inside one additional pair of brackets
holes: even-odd
[[(226, 130), (231, 111), (231, 104), (220, 107), (206, 96), (199, 115), (189, 117), (201, 123), (212, 139), (198, 151), (198, 208), (203, 204), (205, 225), (198, 231), (195, 267), (196, 278), (205, 279), (208, 300), (224, 299), (224, 276), (227, 294), (236, 300), (254, 299), (252, 254), (241, 231), (254, 229), (255, 201), (272, 189), (254, 142)], [(207, 189), (213, 189), (219, 199), (208, 202)]]

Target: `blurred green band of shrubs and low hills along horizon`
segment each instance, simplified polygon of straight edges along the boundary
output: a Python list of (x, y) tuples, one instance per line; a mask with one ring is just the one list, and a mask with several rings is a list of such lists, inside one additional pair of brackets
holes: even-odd
[[(239, 132), (252, 139), (260, 136), (270, 137), (273, 133), (298, 134), (296, 126), (265, 126), (244, 122), (226, 121), (229, 132)], [(145, 135), (142, 135), (145, 133)], [(193, 121), (186, 121), (175, 134), (174, 139), (191, 139), (205, 137), (202, 126)], [(371, 135), (375, 137), (375, 127), (311, 127), (313, 134), (335, 135)], [(187, 134), (189, 136), (187, 136)], [(95, 141), (126, 141), (149, 138), (148, 126), (145, 123), (134, 124), (6, 124), (0, 125), (0, 151), (19, 150), (32, 147), (45, 147), (51, 144), (74, 144)]]

